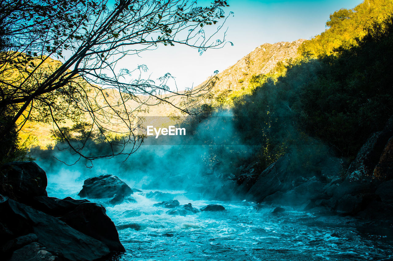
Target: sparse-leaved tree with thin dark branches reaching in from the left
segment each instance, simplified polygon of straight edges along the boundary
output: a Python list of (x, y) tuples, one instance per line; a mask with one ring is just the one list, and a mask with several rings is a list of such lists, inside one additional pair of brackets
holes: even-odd
[[(119, 70), (116, 63), (159, 45), (183, 44), (200, 53), (222, 47), (225, 33), (222, 40), (213, 37), (222, 27), (218, 20), (227, 18), (222, 10), (228, 6), (225, 1), (200, 7), (189, 0), (118, 0), (111, 9), (107, 0), (0, 2), (0, 113), (11, 111), (12, 116), (1, 130), (2, 141), (15, 124), (20, 130), (26, 121), (53, 121), (61, 133), (65, 119), (78, 122), (88, 117), (90, 132), (100, 130), (104, 137), (113, 125), (127, 126), (119, 132), (121, 144), (133, 147), (86, 156), (83, 146), (69, 143), (75, 153), (86, 159), (130, 154), (138, 147), (137, 114), (142, 105), (171, 103), (185, 113), (198, 113), (186, 100), (203, 96), (217, 79), (213, 76), (198, 89), (171, 90), (170, 74), (156, 81), (143, 79), (144, 65), (132, 71)], [(217, 29), (206, 34), (205, 27), (215, 24)], [(175, 102), (179, 96), (182, 101)]]

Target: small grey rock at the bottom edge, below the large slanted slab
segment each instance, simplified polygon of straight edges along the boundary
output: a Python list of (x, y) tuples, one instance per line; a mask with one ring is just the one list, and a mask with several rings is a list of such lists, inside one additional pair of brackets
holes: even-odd
[(10, 261), (60, 261), (63, 260), (55, 256), (48, 249), (42, 247), (37, 242), (30, 243), (13, 252)]

